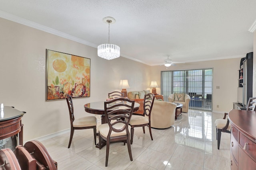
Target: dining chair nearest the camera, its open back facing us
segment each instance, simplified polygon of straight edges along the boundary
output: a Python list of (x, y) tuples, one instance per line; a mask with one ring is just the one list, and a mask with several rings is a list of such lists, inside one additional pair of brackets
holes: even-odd
[(100, 125), (98, 129), (100, 141), (99, 149), (102, 148), (102, 139), (106, 141), (107, 145), (105, 166), (108, 166), (110, 142), (124, 141), (124, 145), (127, 143), (130, 160), (132, 161), (128, 125), (132, 117), (133, 109), (134, 100), (129, 100), (127, 98), (116, 98), (104, 102), (104, 111), (107, 123)]

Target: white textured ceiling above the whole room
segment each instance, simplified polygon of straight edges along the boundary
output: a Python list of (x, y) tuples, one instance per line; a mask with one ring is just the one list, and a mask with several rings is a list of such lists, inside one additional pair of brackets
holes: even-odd
[[(0, 0), (0, 17), (148, 65), (241, 57), (253, 51), (256, 0)], [(25, 19), (25, 20), (24, 20)]]

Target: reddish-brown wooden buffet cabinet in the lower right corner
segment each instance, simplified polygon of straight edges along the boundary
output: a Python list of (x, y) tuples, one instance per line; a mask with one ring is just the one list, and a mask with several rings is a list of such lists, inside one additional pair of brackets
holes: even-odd
[(231, 170), (256, 170), (256, 111), (231, 110)]

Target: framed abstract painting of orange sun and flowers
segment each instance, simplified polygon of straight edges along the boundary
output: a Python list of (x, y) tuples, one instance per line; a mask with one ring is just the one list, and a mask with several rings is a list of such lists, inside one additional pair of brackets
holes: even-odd
[(46, 100), (90, 97), (90, 59), (47, 49)]

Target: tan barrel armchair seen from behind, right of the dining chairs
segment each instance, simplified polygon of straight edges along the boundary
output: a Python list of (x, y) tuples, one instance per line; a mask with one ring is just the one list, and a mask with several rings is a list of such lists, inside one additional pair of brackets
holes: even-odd
[(154, 100), (150, 124), (157, 129), (165, 129), (174, 125), (176, 104)]

